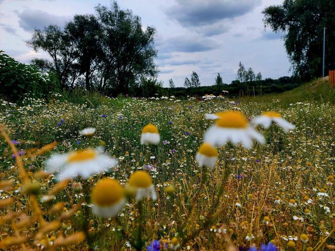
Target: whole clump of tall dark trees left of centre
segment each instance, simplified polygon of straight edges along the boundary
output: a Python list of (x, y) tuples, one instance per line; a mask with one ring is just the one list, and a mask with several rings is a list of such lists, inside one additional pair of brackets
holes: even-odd
[(116, 2), (95, 7), (94, 15), (76, 15), (64, 28), (35, 30), (27, 42), (51, 60), (35, 58), (42, 71), (57, 73), (62, 87), (85, 87), (105, 94), (129, 94), (156, 83), (153, 27), (142, 28), (140, 17)]

